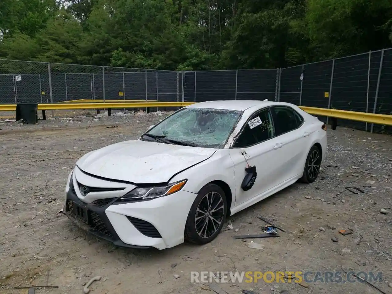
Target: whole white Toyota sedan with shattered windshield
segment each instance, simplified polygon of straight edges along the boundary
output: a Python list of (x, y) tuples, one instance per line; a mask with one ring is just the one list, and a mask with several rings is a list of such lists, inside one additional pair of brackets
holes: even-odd
[(195, 103), (138, 140), (80, 158), (68, 177), (64, 213), (118, 246), (205, 244), (228, 216), (298, 179), (316, 180), (326, 130), (290, 103)]

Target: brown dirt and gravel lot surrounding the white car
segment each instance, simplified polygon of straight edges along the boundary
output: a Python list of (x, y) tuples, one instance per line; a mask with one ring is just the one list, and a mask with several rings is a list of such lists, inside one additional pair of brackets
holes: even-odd
[[(0, 293), (27, 293), (14, 289), (27, 285), (59, 287), (36, 293), (82, 293), (84, 283), (102, 276), (90, 287), (91, 294), (209, 294), (213, 292), (206, 285), (191, 283), (190, 271), (325, 273), (342, 267), (381, 272), (382, 282), (375, 285), (392, 292), (388, 287), (392, 282), (391, 137), (342, 127), (328, 130), (327, 160), (315, 183), (296, 183), (232, 216), (233, 229), (210, 244), (130, 250), (86, 235), (58, 213), (65, 181), (86, 152), (135, 139), (167, 113), (98, 118), (88, 111), (56, 115), (63, 118), (36, 125), (0, 119)], [(364, 193), (345, 189), (351, 186)], [(237, 234), (260, 234), (265, 225), (257, 218), (260, 214), (285, 229), (279, 233), (281, 238), (254, 239), (263, 249), (248, 247), (251, 240), (232, 240)], [(352, 234), (338, 234), (349, 228)], [(261, 279), (258, 283), (220, 283), (219, 287), (229, 294), (243, 289), (258, 294), (282, 290), (290, 294), (380, 293), (359, 282), (299, 285)]]

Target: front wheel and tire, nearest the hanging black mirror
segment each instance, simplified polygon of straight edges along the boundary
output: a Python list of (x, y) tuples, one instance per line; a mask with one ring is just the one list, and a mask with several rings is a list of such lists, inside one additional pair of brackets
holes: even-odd
[[(207, 244), (214, 240), (223, 227), (226, 212), (225, 192), (218, 185), (205, 185), (199, 191), (189, 210), (185, 224), (185, 240), (197, 245)], [(207, 225), (205, 225), (206, 222)]]

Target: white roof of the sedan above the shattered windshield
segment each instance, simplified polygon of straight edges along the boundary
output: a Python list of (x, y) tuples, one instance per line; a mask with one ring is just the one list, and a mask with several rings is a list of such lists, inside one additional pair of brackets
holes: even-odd
[(276, 101), (260, 101), (260, 100), (218, 100), (218, 101), (205, 101), (198, 102), (187, 107), (190, 108), (209, 108), (209, 109), (223, 109), (223, 110), (236, 110), (244, 111), (249, 108), (261, 108), (272, 105), (287, 105), (294, 106), (290, 103), (276, 102)]

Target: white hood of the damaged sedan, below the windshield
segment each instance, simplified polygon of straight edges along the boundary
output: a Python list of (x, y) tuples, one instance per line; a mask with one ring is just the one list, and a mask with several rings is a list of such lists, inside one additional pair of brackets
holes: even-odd
[(84, 172), (111, 180), (165, 183), (174, 174), (208, 159), (216, 150), (132, 140), (91, 151), (76, 165)]

